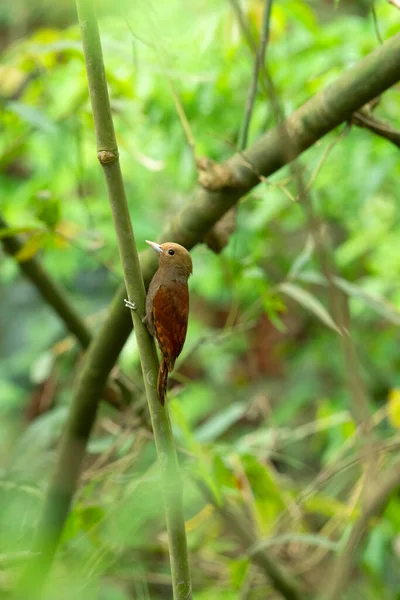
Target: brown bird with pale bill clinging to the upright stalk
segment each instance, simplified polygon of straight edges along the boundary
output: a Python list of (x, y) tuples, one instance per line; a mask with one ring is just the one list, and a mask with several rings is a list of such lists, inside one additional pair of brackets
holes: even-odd
[[(149, 244), (158, 253), (159, 267), (150, 282), (146, 298), (144, 321), (158, 342), (161, 363), (157, 391), (161, 404), (165, 402), (168, 373), (174, 369), (186, 339), (189, 316), (188, 279), (193, 272), (189, 252), (180, 244), (165, 242)], [(136, 306), (125, 301), (129, 308)]]

